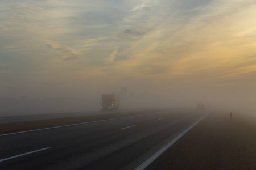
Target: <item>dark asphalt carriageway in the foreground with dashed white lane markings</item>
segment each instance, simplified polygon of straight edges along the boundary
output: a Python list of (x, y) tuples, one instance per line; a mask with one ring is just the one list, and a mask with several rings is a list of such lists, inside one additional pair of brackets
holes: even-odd
[(203, 116), (170, 110), (0, 135), (0, 169), (138, 169)]

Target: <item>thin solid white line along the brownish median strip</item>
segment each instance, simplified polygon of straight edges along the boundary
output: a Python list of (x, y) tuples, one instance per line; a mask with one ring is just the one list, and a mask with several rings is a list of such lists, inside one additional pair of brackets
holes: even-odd
[[(165, 111), (163, 111), (163, 112), (165, 112)], [(153, 112), (153, 113), (146, 113), (146, 114), (138, 114), (138, 115), (134, 115), (134, 116), (126, 116), (126, 117), (109, 118), (109, 119), (105, 119), (105, 120), (98, 120), (98, 121), (91, 121), (91, 122), (83, 122), (83, 123), (79, 123), (79, 124), (71, 124), (71, 125), (63, 125), (63, 126), (53, 126), (53, 127), (51, 127), (51, 128), (42, 128), (42, 129), (34, 129), (34, 130), (18, 131), (18, 132), (14, 132), (14, 133), (1, 134), (1, 135), (0, 135), (0, 137), (2, 137), (2, 136), (6, 136), (6, 135), (12, 135), (12, 134), (27, 133), (27, 132), (31, 132), (31, 131), (39, 131), (39, 130), (47, 130), (47, 129), (63, 128), (63, 127), (67, 127), (67, 126), (75, 126), (75, 125), (83, 125), (83, 124), (92, 124), (92, 123), (96, 123), (96, 122), (103, 122), (103, 121), (110, 121), (110, 120), (118, 120), (118, 119), (122, 119), (122, 118), (129, 118), (129, 117), (144, 116), (144, 115), (147, 115), (147, 114), (154, 114), (154, 113), (160, 113), (160, 112)]]

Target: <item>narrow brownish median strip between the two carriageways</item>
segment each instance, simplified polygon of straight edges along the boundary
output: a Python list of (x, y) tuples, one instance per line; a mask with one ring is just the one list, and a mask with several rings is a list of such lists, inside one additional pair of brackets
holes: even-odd
[(64, 126), (74, 126), (81, 124), (89, 124), (92, 122), (108, 121), (120, 118), (143, 116), (144, 114), (160, 113), (166, 111), (166, 109), (155, 109), (146, 111), (133, 111), (125, 113), (110, 113), (92, 116), (82, 117), (68, 117), (68, 118), (56, 118), (51, 120), (37, 120), (27, 122), (14, 122), (7, 124), (0, 124), (0, 136), (26, 133), (29, 131), (38, 131), (44, 129), (61, 128)]

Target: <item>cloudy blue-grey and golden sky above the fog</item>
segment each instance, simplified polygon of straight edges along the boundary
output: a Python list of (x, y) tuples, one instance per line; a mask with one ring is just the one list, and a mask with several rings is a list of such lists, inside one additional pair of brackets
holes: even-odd
[(255, 0), (0, 0), (0, 98), (127, 87), (253, 104), (255, 16)]

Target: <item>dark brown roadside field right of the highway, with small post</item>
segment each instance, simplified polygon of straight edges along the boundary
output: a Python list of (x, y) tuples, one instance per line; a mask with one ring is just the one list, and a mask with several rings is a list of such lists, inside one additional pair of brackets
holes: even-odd
[(230, 120), (228, 112), (209, 114), (160, 169), (256, 169), (253, 120), (234, 113)]

